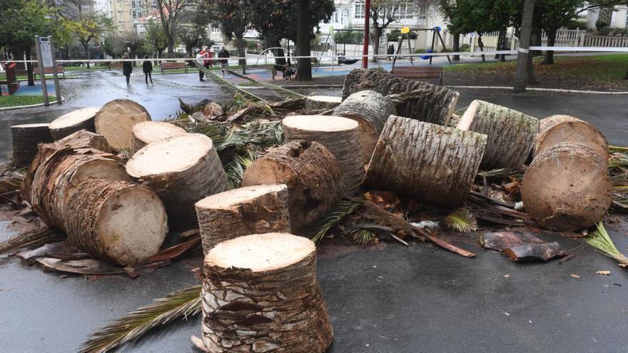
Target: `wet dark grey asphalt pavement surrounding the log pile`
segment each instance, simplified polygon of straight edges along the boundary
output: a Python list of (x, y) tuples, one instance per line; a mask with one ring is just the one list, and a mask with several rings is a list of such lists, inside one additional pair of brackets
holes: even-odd
[[(76, 88), (68, 85), (64, 106), (0, 113), (0, 150), (7, 150), (8, 127), (18, 121), (50, 121), (64, 111), (113, 98), (134, 99), (153, 118), (175, 113), (178, 96), (192, 102), (228, 98), (211, 89), (213, 83), (188, 87), (198, 83), (196, 76), (166, 76), (168, 83), (158, 83), (163, 78), (156, 76), (154, 87), (133, 84), (130, 90), (123, 76), (89, 76), (89, 81), (72, 83)], [(539, 118), (570, 113), (594, 123), (610, 143), (628, 145), (627, 96), (465, 90), (459, 106), (474, 98)], [(607, 221), (607, 230), (625, 252), (627, 218), (613, 219)], [(0, 222), (0, 240), (11, 235), (6, 225)], [(587, 246), (578, 247), (578, 240), (559, 242), (577, 249), (562, 265), (510, 262), (473, 241), (459, 244), (477, 253), (473, 259), (415, 242), (410, 247), (396, 242), (372, 247), (323, 244), (318, 275), (335, 330), (328, 352), (627, 352), (628, 270)], [(135, 280), (119, 276), (94, 281), (61, 278), (17, 260), (0, 261), (0, 352), (76, 352), (90, 332), (109, 320), (196, 284), (191, 270), (200, 260), (191, 257), (143, 272)], [(611, 275), (596, 275), (598, 270), (610, 270)], [(193, 352), (191, 334), (200, 334), (198, 318), (118, 352)]]

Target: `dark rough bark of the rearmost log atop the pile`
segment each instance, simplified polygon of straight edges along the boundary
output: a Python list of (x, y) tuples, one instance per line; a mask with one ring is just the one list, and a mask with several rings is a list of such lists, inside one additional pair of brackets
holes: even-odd
[(397, 105), (397, 114), (407, 118), (447, 126), (460, 93), (425, 81), (399, 78), (383, 68), (354, 68), (345, 78), (343, 100), (358, 91), (372, 90), (383, 96), (425, 90), (425, 94)]

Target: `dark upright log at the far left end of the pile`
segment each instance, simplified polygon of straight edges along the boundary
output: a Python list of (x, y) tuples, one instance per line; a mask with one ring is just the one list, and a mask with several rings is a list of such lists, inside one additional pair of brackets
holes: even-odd
[(39, 143), (54, 141), (50, 134), (50, 124), (24, 124), (11, 126), (11, 162), (16, 167), (30, 165), (37, 154)]

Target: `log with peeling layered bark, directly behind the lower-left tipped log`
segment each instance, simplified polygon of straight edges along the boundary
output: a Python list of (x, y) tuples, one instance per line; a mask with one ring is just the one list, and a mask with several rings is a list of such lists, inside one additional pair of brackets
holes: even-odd
[[(31, 203), (46, 225), (65, 231), (66, 203), (88, 179), (131, 181), (116, 156), (99, 150), (57, 150), (42, 163), (31, 187)], [(71, 216), (71, 215), (69, 215)]]

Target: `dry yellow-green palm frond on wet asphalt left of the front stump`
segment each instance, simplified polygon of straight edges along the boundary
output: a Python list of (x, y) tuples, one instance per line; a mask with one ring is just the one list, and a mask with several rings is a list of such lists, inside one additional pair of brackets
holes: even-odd
[(194, 285), (181, 292), (153, 300), (153, 303), (141, 307), (116, 319), (106, 327), (93, 332), (78, 352), (105, 353), (122, 344), (138, 339), (152, 329), (164, 326), (176, 319), (188, 319), (201, 312), (201, 286)]

